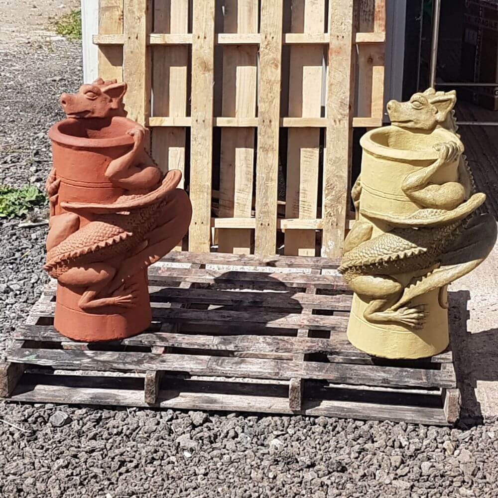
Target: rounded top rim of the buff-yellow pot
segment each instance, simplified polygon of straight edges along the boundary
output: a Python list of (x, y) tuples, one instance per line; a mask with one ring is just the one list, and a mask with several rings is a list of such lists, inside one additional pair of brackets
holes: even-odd
[[(403, 133), (403, 132), (410, 133), (408, 130), (392, 125), (383, 126), (381, 128), (374, 128), (365, 133), (361, 137), (360, 145), (367, 152), (370, 152), (375, 156), (382, 157), (385, 159), (395, 159), (395, 160), (400, 160), (402, 162), (435, 161), (436, 159), (438, 159), (439, 153), (437, 152), (437, 150), (435, 150), (432, 147), (427, 149), (420, 148), (416, 150), (396, 149), (394, 147), (387, 147), (386, 145), (381, 145), (380, 143), (372, 139), (372, 136), (375, 135), (376, 133), (389, 133), (391, 132), (391, 130), (395, 130), (394, 132), (396, 133)], [(463, 152), (464, 149), (463, 144), (455, 133), (445, 128), (437, 128), (436, 131), (437, 133), (448, 134), (447, 141), (452, 140), (457, 142), (459, 148)], [(441, 140), (441, 141), (446, 141), (446, 140)]]

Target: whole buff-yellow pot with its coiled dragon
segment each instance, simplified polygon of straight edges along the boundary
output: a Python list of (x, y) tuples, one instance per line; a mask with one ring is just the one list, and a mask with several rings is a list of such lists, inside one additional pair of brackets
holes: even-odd
[(497, 238), (457, 133), (455, 92), (391, 101), (391, 126), (361, 139), (353, 187), (357, 221), (339, 270), (355, 292), (348, 338), (385, 358), (423, 358), (448, 346), (447, 286)]

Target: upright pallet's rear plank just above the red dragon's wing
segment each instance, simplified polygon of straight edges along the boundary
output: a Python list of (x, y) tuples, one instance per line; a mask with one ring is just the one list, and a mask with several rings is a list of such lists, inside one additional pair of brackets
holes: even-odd
[[(154, 3), (154, 30), (160, 33), (188, 31), (188, 0)], [(153, 48), (153, 115), (169, 118), (187, 116), (186, 46), (156, 46)], [(152, 130), (152, 155), (163, 172), (179, 169), (184, 188), (185, 181), (185, 128), (157, 127)], [(181, 247), (176, 248), (181, 250)]]

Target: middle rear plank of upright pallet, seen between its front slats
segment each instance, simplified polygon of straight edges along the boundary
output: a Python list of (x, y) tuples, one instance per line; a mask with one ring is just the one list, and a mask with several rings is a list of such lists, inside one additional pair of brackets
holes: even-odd
[[(223, 17), (226, 33), (257, 32), (257, 0), (226, 0)], [(223, 47), (222, 115), (235, 119), (256, 116), (257, 47)], [(221, 130), (220, 217), (250, 218), (254, 129)], [(249, 254), (252, 231), (218, 231), (218, 250)]]

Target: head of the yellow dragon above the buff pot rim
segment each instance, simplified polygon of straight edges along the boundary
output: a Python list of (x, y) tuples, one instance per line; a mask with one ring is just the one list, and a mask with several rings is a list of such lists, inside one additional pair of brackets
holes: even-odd
[(429, 88), (425, 92), (412, 95), (408, 102), (389, 101), (387, 114), (394, 126), (433, 130), (446, 121), (456, 101), (455, 90), (436, 92), (433, 88)]

